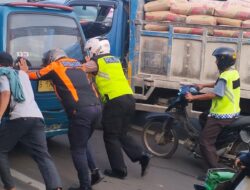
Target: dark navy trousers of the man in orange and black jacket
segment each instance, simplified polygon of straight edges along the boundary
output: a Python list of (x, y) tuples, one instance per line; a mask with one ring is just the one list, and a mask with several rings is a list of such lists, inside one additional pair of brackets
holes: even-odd
[(77, 170), (80, 188), (90, 188), (87, 145), (96, 122), (100, 121), (101, 106), (87, 106), (78, 109), (71, 117), (69, 126), (69, 142), (72, 160)]

